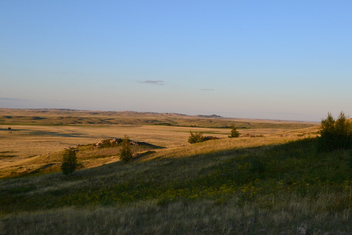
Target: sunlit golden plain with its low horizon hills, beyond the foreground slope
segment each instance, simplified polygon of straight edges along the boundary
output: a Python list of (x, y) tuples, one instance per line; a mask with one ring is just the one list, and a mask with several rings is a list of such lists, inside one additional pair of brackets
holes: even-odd
[[(130, 136), (134, 141), (143, 141), (155, 146), (174, 148), (188, 145), (189, 131), (202, 131), (205, 136), (226, 138), (229, 128), (199, 128), (166, 125), (142, 125), (145, 123), (173, 123), (177, 125), (247, 126), (239, 128), (241, 134), (271, 135), (314, 126), (314, 122), (280, 120), (235, 119), (219, 116), (187, 116), (175, 113), (150, 112), (101, 112), (80, 110), (26, 110), (0, 109), (0, 177), (27, 168), (40, 168), (49, 163), (37, 159), (48, 157), (48, 152), (60, 151), (77, 144), (89, 144), (113, 137)], [(89, 123), (78, 121), (88, 120)], [(112, 120), (118, 123), (106, 124)], [(264, 122), (265, 121), (265, 122)], [(21, 125), (15, 125), (21, 123)], [(142, 123), (142, 124), (141, 124)], [(7, 124), (7, 125), (6, 125)], [(11, 125), (10, 125), (11, 124)], [(7, 129), (11, 127), (11, 129)], [(314, 127), (313, 127), (314, 128)], [(116, 152), (118, 154), (118, 152)], [(42, 156), (43, 155), (43, 156)], [(108, 157), (110, 157), (110, 154)], [(50, 155), (53, 156), (53, 155)], [(33, 159), (34, 158), (34, 159)], [(32, 160), (30, 160), (32, 159)], [(49, 157), (50, 159), (50, 157)], [(102, 159), (101, 159), (102, 160)], [(111, 160), (95, 161), (97, 166)], [(33, 162), (36, 162), (33, 164)]]

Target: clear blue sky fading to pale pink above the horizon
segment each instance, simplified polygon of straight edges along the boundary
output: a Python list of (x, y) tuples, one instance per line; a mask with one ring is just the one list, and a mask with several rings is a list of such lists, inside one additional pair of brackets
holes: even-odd
[(0, 107), (352, 116), (352, 1), (1, 1)]

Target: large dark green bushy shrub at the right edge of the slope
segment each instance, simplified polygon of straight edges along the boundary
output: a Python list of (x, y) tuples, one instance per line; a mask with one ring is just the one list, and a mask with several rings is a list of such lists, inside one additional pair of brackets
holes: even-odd
[(321, 119), (319, 150), (334, 151), (352, 148), (352, 123), (347, 118), (341, 111), (337, 120), (330, 112), (325, 119)]

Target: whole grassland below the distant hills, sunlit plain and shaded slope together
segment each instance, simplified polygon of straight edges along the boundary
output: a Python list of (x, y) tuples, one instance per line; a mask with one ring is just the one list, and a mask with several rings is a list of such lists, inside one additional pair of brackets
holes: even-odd
[[(0, 234), (351, 234), (351, 150), (319, 152), (313, 123), (273, 124), (240, 138), (228, 128), (10, 125), (0, 130)], [(189, 130), (220, 138), (189, 144)], [(151, 145), (131, 146), (141, 155), (127, 163), (118, 145), (93, 149), (124, 134)], [(71, 177), (60, 172), (69, 146)]]

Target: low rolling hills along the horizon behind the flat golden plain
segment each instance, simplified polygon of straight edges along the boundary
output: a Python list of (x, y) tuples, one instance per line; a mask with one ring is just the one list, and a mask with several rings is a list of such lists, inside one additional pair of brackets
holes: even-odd
[(0, 123), (27, 125), (169, 123), (178, 126), (301, 129), (318, 122), (227, 118), (218, 115), (186, 115), (136, 111), (90, 111), (73, 109), (0, 109)]

